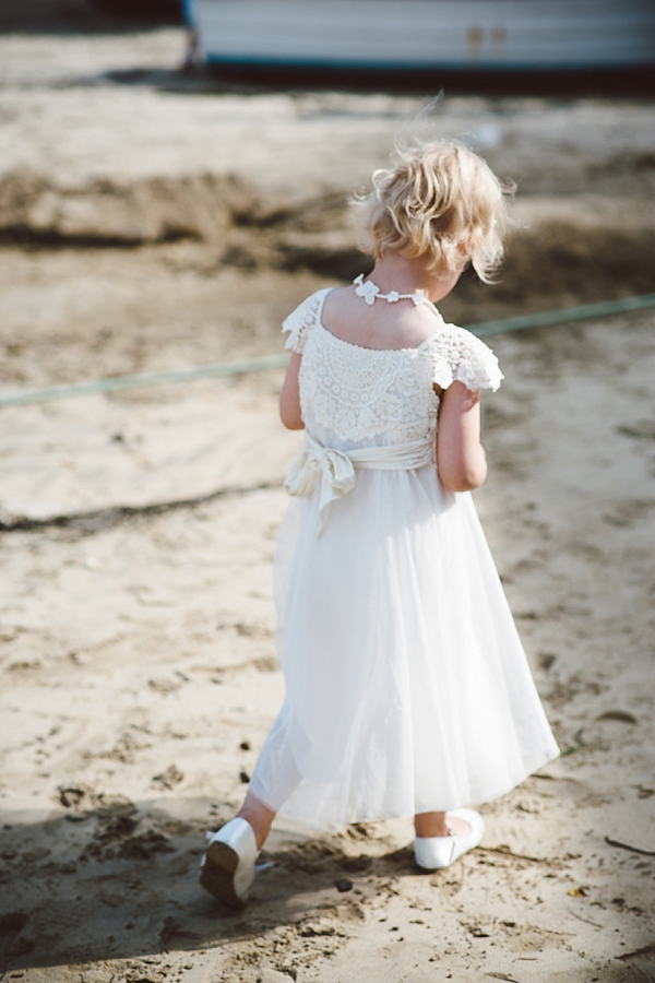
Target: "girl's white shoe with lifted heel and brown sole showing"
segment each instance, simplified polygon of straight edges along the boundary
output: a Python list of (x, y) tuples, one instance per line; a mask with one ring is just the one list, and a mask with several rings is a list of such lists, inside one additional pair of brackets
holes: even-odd
[(243, 908), (254, 880), (257, 840), (251, 825), (237, 817), (218, 832), (207, 833), (207, 852), (200, 865), (202, 887), (231, 908)]

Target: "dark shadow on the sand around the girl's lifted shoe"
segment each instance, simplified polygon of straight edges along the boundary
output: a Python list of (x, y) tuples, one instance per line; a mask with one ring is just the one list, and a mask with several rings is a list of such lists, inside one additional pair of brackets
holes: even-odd
[[(204, 832), (226, 809), (200, 800), (133, 803), (61, 789), (44, 817), (5, 814), (0, 884), (0, 973), (207, 949), (248, 941), (277, 926), (364, 917), (361, 904), (390, 877), (416, 876), (408, 846), (384, 853), (372, 827), (303, 839), (274, 831), (262, 851), (251, 901), (235, 911), (198, 884)], [(364, 851), (368, 851), (368, 854)], [(338, 912), (336, 911), (338, 907)]]

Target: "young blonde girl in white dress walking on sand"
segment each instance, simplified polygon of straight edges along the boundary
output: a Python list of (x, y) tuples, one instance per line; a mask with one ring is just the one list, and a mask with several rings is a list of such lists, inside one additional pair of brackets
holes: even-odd
[(414, 815), (433, 871), (480, 842), (465, 806), (558, 754), (469, 495), (487, 474), (480, 390), (502, 375), (434, 307), (468, 262), (488, 281), (500, 261), (502, 189), (442, 144), (373, 185), (358, 203), (372, 273), (283, 327), (281, 416), (306, 429), (275, 560), (286, 697), (201, 871), (238, 907), (277, 812), (319, 829)]

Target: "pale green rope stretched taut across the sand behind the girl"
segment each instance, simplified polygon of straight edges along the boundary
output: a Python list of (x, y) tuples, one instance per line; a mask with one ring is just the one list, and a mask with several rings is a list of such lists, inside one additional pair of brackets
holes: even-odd
[[(481, 321), (471, 324), (468, 330), (478, 337), (501, 334), (505, 331), (522, 331), (527, 328), (544, 328), (553, 324), (565, 324), (570, 321), (585, 321), (592, 318), (606, 318), (611, 315), (627, 313), (633, 310), (645, 310), (655, 307), (655, 294), (638, 297), (622, 297), (619, 300), (606, 300), (602, 304), (584, 304), (581, 307), (568, 307), (563, 310), (549, 310), (524, 317), (504, 318), (500, 321)], [(73, 382), (69, 386), (49, 386), (44, 389), (25, 389), (23, 392), (10, 392), (0, 395), (0, 406), (20, 406), (27, 403), (47, 403), (52, 400), (66, 400), (73, 396), (96, 395), (102, 392), (117, 392), (121, 389), (139, 389), (146, 386), (163, 386), (171, 382), (191, 382), (195, 379), (210, 379), (219, 376), (237, 376), (243, 372), (258, 372), (263, 369), (284, 368), (289, 356), (264, 355), (261, 358), (245, 358), (241, 362), (222, 362), (217, 365), (203, 365), (196, 368), (172, 369), (166, 372), (138, 372), (132, 376), (111, 376), (107, 379), (90, 379), (86, 382)]]

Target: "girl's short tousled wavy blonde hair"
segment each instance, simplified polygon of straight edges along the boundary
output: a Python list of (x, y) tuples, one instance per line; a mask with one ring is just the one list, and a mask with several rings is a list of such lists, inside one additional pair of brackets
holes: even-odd
[(364, 252), (427, 256), (430, 269), (443, 273), (468, 259), (480, 280), (491, 282), (502, 260), (511, 189), (486, 161), (464, 146), (427, 143), (400, 151), (395, 166), (376, 170), (372, 180), (370, 194), (350, 200)]

